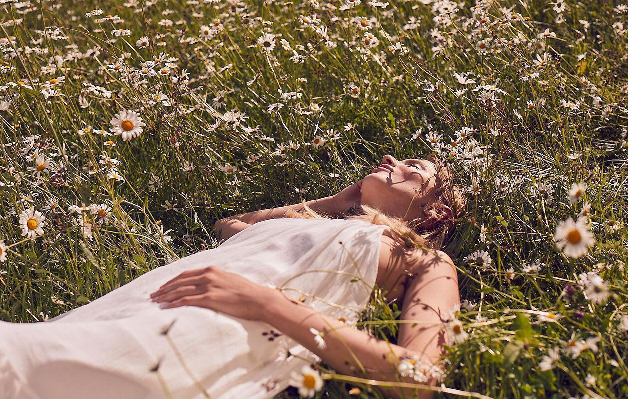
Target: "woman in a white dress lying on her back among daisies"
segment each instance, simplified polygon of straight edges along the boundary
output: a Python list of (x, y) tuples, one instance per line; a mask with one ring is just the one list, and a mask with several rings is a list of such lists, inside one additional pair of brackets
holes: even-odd
[[(308, 395), (321, 381), (303, 366), (318, 359), (339, 373), (435, 384), (429, 367), (459, 302), (455, 268), (438, 249), (463, 203), (435, 156), (386, 155), (338, 194), (222, 219), (218, 248), (48, 322), (0, 322), (0, 393), (272, 398), (294, 385)], [(345, 215), (354, 208), (363, 212)], [(397, 344), (355, 328), (374, 285), (409, 320)], [(416, 389), (383, 391), (401, 398)]]

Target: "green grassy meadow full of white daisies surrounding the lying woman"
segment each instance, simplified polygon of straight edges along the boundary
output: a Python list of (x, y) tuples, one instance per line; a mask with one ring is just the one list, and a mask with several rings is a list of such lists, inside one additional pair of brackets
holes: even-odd
[[(627, 31), (607, 0), (0, 0), (0, 319), (436, 153), (470, 204), (437, 396), (628, 398)], [(383, 397), (319, 369), (319, 398)]]

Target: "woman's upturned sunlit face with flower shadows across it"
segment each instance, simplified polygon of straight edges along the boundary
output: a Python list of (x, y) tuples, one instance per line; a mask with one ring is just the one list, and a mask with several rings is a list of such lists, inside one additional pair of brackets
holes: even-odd
[(386, 154), (381, 165), (362, 179), (362, 204), (411, 220), (425, 216), (423, 209), (435, 200), (437, 185), (433, 162), (415, 158), (398, 161)]

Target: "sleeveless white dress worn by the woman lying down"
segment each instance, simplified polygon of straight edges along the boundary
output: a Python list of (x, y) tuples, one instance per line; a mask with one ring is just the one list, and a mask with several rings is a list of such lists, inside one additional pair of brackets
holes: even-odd
[[(369, 302), (386, 229), (355, 219), (269, 219), (46, 322), (0, 322), (0, 398), (272, 398), (313, 353), (264, 322), (161, 309), (149, 294), (183, 271), (216, 265), (291, 288), (290, 297), (354, 322)], [(285, 359), (286, 349), (296, 356)]]

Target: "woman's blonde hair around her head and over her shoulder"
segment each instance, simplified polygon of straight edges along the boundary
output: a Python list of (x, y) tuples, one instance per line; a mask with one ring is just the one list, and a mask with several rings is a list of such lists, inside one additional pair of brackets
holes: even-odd
[[(359, 219), (389, 226), (393, 238), (401, 241), (406, 246), (414, 246), (416, 248), (431, 249), (433, 251), (443, 248), (447, 241), (455, 222), (461, 220), (466, 212), (467, 201), (465, 200), (462, 190), (453, 182), (447, 167), (442, 163), (436, 155), (428, 155), (426, 160), (431, 161), (436, 166), (436, 199), (433, 204), (447, 205), (452, 209), (452, 217), (443, 222), (433, 222), (427, 216), (420, 216), (410, 221), (405, 221), (399, 217), (384, 214), (379, 209), (362, 205), (362, 213), (347, 216), (344, 219)], [(293, 219), (331, 219), (328, 216), (322, 216), (312, 210), (305, 204), (305, 200), (301, 200), (303, 210), (288, 209), (284, 217)]]

